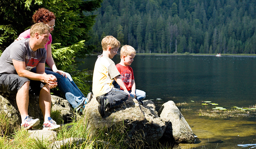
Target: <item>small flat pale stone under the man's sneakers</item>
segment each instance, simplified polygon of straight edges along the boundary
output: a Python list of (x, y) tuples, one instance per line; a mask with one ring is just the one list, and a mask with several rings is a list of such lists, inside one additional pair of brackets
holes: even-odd
[(35, 140), (44, 140), (53, 142), (57, 138), (57, 133), (51, 130), (37, 130), (31, 129), (28, 130), (29, 138), (33, 138)]

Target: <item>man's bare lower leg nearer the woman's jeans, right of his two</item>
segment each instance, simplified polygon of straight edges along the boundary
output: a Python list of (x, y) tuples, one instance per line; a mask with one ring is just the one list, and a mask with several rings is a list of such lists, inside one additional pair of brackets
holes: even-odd
[(42, 110), (44, 121), (47, 121), (48, 117), (51, 117), (51, 107), (52, 107), (51, 93), (50, 93), (50, 88), (48, 84), (45, 84), (40, 91), (39, 106)]

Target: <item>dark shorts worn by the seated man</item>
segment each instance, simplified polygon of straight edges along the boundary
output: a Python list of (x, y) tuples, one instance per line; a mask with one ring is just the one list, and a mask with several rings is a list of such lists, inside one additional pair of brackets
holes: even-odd
[(39, 95), (45, 83), (20, 77), (17, 74), (0, 74), (0, 92), (16, 94), (27, 81), (30, 81), (29, 93)]

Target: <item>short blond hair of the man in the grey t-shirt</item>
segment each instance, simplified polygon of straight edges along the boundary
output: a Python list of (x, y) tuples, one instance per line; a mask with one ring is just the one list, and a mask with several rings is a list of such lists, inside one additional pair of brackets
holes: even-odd
[(36, 23), (36, 24), (32, 25), (32, 27), (30, 29), (30, 37), (34, 37), (35, 33), (42, 35), (45, 33), (46, 30), (48, 30), (49, 33), (51, 32), (48, 25), (44, 24), (43, 22)]

